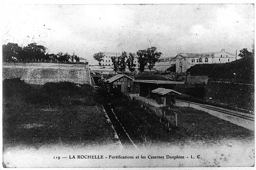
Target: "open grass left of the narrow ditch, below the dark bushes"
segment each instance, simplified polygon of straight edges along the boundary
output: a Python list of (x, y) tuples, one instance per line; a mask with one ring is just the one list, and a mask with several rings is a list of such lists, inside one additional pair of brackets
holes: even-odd
[(26, 102), (17, 95), (4, 98), (4, 147), (113, 143), (114, 131), (101, 106), (65, 103), (50, 107), (46, 110), (46, 105)]

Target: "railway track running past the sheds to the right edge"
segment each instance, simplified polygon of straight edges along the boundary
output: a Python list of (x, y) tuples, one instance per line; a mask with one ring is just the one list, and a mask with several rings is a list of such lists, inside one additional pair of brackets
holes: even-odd
[[(188, 103), (188, 101), (185, 101), (185, 100), (178, 100), (178, 99), (176, 99), (176, 100)], [(220, 108), (220, 107), (216, 107), (216, 106), (204, 105), (204, 104), (199, 104), (199, 103), (194, 103), (194, 102), (190, 102), (190, 104), (198, 105), (202, 108), (206, 108), (206, 109), (209, 109), (209, 110), (214, 110), (214, 111), (218, 111), (218, 112), (225, 113), (225, 114), (228, 114), (228, 115), (243, 118), (243, 119), (246, 119), (246, 120), (254, 121), (254, 115), (251, 115), (251, 114), (248, 114), (248, 113), (237, 112), (237, 111), (228, 110), (228, 109), (224, 109), (224, 108)]]

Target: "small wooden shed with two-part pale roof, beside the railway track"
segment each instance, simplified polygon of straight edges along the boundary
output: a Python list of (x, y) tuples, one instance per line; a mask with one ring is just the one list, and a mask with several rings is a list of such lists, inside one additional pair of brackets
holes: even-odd
[(152, 97), (155, 96), (156, 102), (158, 104), (163, 104), (163, 105), (175, 105), (175, 98), (176, 98), (175, 94), (181, 95), (181, 93), (175, 90), (165, 89), (165, 88), (157, 88), (155, 90), (152, 90), (151, 92), (155, 94), (155, 95), (152, 95)]

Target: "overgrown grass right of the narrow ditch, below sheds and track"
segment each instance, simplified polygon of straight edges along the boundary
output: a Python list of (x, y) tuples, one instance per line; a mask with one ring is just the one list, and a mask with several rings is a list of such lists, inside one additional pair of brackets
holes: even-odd
[[(177, 107), (178, 127), (175, 125), (174, 110), (166, 110), (170, 129), (160, 118), (137, 101), (123, 102), (120, 98), (112, 107), (118, 119), (131, 136), (140, 144), (158, 145), (160, 143), (189, 144), (190, 142), (222, 144), (227, 141), (253, 141), (254, 132), (217, 118), (204, 111), (188, 107)], [(121, 102), (122, 101), (122, 102)], [(126, 103), (126, 104), (122, 104)], [(146, 139), (146, 140), (145, 140)]]

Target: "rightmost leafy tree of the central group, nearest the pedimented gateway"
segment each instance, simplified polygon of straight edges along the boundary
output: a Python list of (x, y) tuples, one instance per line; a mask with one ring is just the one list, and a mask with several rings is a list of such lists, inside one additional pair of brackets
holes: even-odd
[(162, 54), (161, 52), (157, 52), (156, 49), (157, 49), (156, 47), (150, 47), (150, 48), (147, 48), (146, 50), (146, 59), (148, 63), (148, 68), (150, 70), (150, 74), (151, 74), (152, 68), (155, 66), (156, 62), (159, 60)]

